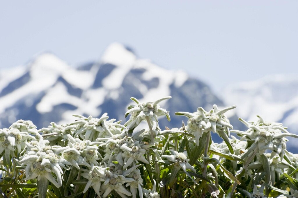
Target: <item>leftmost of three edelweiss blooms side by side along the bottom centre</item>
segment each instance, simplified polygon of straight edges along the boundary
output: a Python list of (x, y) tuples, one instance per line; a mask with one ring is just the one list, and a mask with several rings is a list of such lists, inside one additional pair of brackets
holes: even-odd
[(101, 183), (105, 181), (106, 174), (110, 167), (105, 165), (101, 166), (94, 166), (93, 164), (91, 165), (91, 170), (89, 172), (84, 172), (81, 175), (88, 179), (88, 182), (84, 188), (83, 193), (86, 193), (87, 190), (92, 186), (96, 194), (100, 196), (100, 186)]

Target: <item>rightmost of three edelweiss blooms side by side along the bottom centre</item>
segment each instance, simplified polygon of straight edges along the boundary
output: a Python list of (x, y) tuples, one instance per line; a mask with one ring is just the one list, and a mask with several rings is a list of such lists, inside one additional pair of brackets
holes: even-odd
[(133, 182), (128, 182), (125, 186), (130, 188), (131, 194), (133, 198), (136, 198), (137, 190), (139, 190), (139, 197), (143, 198), (143, 179), (141, 177), (141, 172), (139, 169), (136, 169), (129, 173), (127, 177), (133, 178)]

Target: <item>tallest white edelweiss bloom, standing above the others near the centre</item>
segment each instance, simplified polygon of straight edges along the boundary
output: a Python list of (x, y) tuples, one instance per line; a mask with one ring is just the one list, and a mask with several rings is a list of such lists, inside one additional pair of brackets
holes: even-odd
[(170, 121), (169, 112), (165, 109), (162, 109), (158, 103), (163, 100), (167, 100), (172, 98), (171, 96), (167, 96), (156, 100), (154, 102), (140, 103), (136, 98), (131, 98), (137, 105), (128, 106), (128, 111), (126, 111), (125, 116), (131, 114), (129, 120), (125, 122), (124, 126), (127, 126), (128, 129), (133, 129), (138, 126), (141, 121), (148, 119), (150, 125), (152, 126), (151, 130), (155, 130), (158, 127), (158, 119), (157, 117), (165, 115), (167, 119)]

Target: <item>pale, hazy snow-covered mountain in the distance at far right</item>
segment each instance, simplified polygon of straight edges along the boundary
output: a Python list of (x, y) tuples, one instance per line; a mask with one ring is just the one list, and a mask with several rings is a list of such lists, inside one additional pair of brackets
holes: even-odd
[[(245, 120), (281, 122), (290, 133), (298, 134), (298, 78), (294, 75), (271, 75), (256, 81), (227, 87), (222, 95), (227, 105), (237, 105), (237, 115)], [(289, 138), (289, 144), (297, 139)], [(295, 145), (297, 147), (297, 145)]]

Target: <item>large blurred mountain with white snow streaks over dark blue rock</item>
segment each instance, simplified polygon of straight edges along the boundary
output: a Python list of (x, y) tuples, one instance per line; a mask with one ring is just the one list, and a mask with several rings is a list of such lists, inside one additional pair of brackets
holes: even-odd
[(160, 120), (162, 129), (181, 126), (184, 117), (175, 116), (176, 111), (224, 105), (203, 82), (139, 59), (119, 43), (111, 44), (99, 62), (78, 68), (44, 53), (0, 72), (0, 128), (18, 119), (32, 120), (38, 128), (73, 122), (73, 114), (99, 117), (108, 112), (110, 118), (124, 120), (130, 97), (146, 102), (168, 95), (172, 98), (161, 105), (170, 111), (171, 122)]

